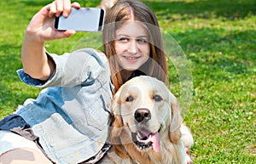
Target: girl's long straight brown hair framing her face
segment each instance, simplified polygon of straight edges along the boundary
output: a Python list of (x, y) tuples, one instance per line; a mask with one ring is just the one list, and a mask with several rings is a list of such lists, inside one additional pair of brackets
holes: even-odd
[(104, 51), (109, 60), (111, 78), (115, 88), (113, 93), (125, 81), (122, 78), (124, 72), (119, 68), (114, 55), (116, 54), (114, 49), (115, 31), (127, 20), (136, 20), (143, 23), (150, 37), (150, 58), (138, 70), (142, 71), (144, 75), (154, 76), (167, 84), (166, 54), (163, 51), (163, 41), (154, 12), (138, 0), (121, 0), (108, 11), (102, 36)]

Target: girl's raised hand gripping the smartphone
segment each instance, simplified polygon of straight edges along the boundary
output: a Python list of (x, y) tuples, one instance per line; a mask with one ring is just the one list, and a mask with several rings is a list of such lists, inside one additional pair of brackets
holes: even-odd
[(79, 3), (70, 3), (70, 0), (55, 0), (46, 5), (35, 14), (26, 28), (26, 39), (35, 42), (44, 42), (72, 36), (75, 31), (56, 31), (54, 27), (55, 17), (67, 17), (71, 8), (80, 8)]

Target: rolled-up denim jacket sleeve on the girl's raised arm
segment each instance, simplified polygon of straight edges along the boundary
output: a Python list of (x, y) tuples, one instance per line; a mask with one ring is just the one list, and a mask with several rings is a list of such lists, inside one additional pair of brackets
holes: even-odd
[[(40, 81), (26, 74), (23, 69), (17, 71), (20, 80), (38, 88), (74, 87), (90, 84), (97, 78), (110, 79), (108, 59), (102, 52), (92, 48), (83, 48), (63, 55), (48, 54), (55, 62), (55, 71), (47, 81)], [(104, 82), (102, 81), (102, 82)]]

